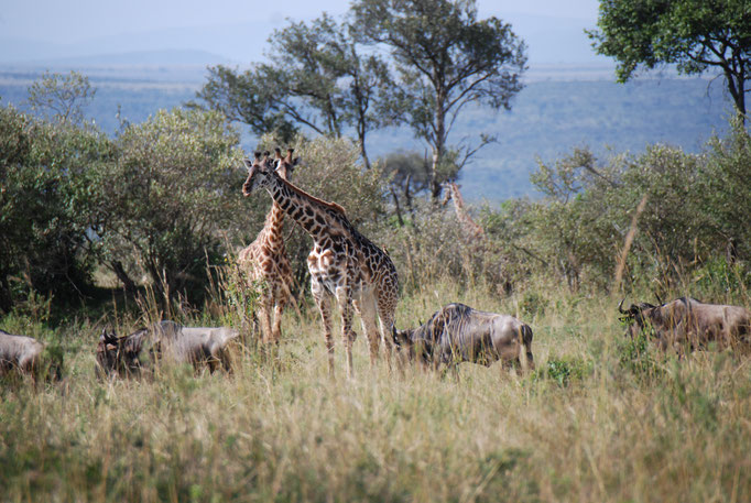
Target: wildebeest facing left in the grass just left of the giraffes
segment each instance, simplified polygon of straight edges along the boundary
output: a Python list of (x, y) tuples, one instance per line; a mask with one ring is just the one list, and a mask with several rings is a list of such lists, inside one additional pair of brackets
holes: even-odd
[(145, 363), (162, 359), (192, 363), (196, 369), (206, 363), (211, 372), (221, 364), (231, 372), (227, 343), (238, 336), (228, 327), (184, 327), (168, 320), (129, 336), (105, 329), (97, 346), (97, 363), (107, 374), (138, 374)]

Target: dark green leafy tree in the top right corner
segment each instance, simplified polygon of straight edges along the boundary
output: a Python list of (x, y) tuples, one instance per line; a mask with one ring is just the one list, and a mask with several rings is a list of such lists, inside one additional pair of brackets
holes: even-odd
[(599, 30), (587, 31), (598, 54), (618, 62), (623, 83), (640, 68), (675, 64), (683, 74), (722, 72), (742, 120), (751, 56), (748, 0), (601, 0)]

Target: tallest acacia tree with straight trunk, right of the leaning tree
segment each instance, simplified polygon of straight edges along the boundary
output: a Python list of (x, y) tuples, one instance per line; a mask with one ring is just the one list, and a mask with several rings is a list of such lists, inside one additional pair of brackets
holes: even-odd
[[(509, 109), (522, 89), (524, 43), (508, 23), (477, 19), (475, 0), (356, 0), (355, 25), (360, 40), (389, 47), (399, 79), (392, 109), (432, 150), (431, 193), (440, 195), (448, 157), (459, 151), (460, 166), (480, 145), (448, 147), (451, 125), (472, 102)], [(454, 166), (456, 171), (456, 166)]]

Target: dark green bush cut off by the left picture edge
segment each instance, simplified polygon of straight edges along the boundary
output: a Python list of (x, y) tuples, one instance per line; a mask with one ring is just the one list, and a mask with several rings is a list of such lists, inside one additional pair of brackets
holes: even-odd
[(73, 302), (92, 262), (89, 215), (109, 140), (68, 122), (37, 122), (0, 108), (0, 309), (34, 292)]

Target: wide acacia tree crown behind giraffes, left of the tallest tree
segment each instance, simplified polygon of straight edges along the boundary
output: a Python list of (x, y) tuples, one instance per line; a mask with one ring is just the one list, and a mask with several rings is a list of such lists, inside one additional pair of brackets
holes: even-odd
[(378, 102), (390, 75), (375, 54), (358, 51), (350, 31), (326, 13), (311, 24), (291, 22), (269, 39), (269, 64), (244, 73), (210, 68), (198, 97), (254, 133), (276, 133), (283, 141), (300, 127), (334, 138), (353, 128), (369, 167), (366, 136), (388, 123)]

